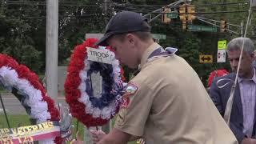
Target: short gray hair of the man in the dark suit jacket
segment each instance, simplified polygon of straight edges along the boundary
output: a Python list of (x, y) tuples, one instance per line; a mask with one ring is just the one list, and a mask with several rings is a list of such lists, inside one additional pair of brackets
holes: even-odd
[(226, 51), (232, 51), (232, 50), (242, 50), (242, 40), (244, 40), (244, 46), (243, 51), (252, 54), (254, 53), (254, 42), (250, 40), (250, 38), (234, 38), (232, 39), (226, 46)]

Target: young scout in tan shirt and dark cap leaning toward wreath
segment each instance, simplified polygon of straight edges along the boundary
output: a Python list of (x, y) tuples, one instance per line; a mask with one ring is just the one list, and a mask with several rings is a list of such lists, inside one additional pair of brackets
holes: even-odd
[(110, 134), (91, 131), (95, 143), (238, 143), (198, 74), (174, 49), (153, 41), (146, 18), (128, 11), (114, 15), (97, 44), (112, 46), (121, 63), (140, 72), (127, 86)]

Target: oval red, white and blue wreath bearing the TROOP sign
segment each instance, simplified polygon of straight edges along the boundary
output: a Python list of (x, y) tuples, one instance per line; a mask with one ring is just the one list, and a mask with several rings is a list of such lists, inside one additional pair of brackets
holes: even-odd
[[(125, 86), (122, 69), (114, 58), (114, 52), (110, 47), (94, 46), (97, 41), (96, 38), (88, 38), (75, 47), (65, 82), (70, 112), (87, 127), (102, 126), (114, 117), (119, 110)], [(91, 55), (96, 55), (98, 59), (93, 61), (89, 58)], [(102, 58), (105, 60), (101, 61)], [(102, 93), (99, 95), (94, 95), (91, 86), (90, 76), (95, 73), (102, 77)]]

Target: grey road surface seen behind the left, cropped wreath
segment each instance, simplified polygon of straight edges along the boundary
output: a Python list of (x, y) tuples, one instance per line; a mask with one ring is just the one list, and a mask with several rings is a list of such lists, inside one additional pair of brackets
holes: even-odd
[[(7, 114), (26, 114), (26, 110), (23, 108), (18, 99), (11, 93), (1, 93), (4, 106)], [(62, 103), (63, 106), (68, 106), (65, 102), (63, 94), (59, 94), (58, 102)], [(58, 104), (55, 102), (55, 104)], [(2, 104), (0, 102), (0, 114), (3, 114)]]

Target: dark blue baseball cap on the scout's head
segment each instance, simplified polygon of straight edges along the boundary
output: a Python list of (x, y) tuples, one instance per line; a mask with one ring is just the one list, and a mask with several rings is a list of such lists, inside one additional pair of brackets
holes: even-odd
[(115, 14), (106, 25), (104, 36), (95, 45), (107, 46), (106, 40), (115, 34), (124, 34), (134, 31), (150, 31), (150, 26), (145, 25), (146, 18), (132, 11), (122, 11)]

